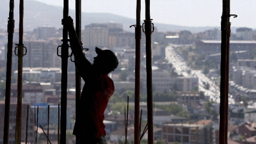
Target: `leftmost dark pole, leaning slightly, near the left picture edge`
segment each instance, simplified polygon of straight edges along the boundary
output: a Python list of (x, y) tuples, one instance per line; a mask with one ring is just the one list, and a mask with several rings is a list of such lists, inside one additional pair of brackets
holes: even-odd
[(9, 119), (10, 119), (10, 97), (11, 97), (11, 76), (12, 76), (12, 47), (14, 33), (13, 19), (14, 2), (10, 0), (10, 12), (8, 20), (8, 43), (7, 43), (7, 62), (6, 62), (6, 89), (5, 89), (5, 108), (4, 108), (4, 144), (8, 143), (9, 139)]

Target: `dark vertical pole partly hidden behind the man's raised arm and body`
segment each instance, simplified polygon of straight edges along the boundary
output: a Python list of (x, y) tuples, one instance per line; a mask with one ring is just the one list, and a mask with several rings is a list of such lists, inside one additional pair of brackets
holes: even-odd
[[(79, 41), (81, 41), (81, 0), (76, 0), (76, 35)], [(76, 70), (76, 118), (78, 115), (78, 106), (79, 106), (80, 97), (81, 97), (81, 76), (78, 75), (78, 72)], [(78, 143), (77, 139), (78, 138), (76, 136), (76, 143)]]

